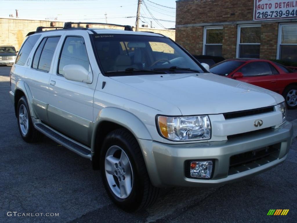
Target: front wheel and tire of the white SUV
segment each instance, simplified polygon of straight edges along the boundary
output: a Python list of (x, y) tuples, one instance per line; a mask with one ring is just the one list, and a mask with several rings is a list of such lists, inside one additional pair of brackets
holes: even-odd
[(138, 142), (126, 129), (105, 137), (100, 167), (109, 197), (124, 211), (139, 211), (157, 200), (159, 189), (151, 184)]

